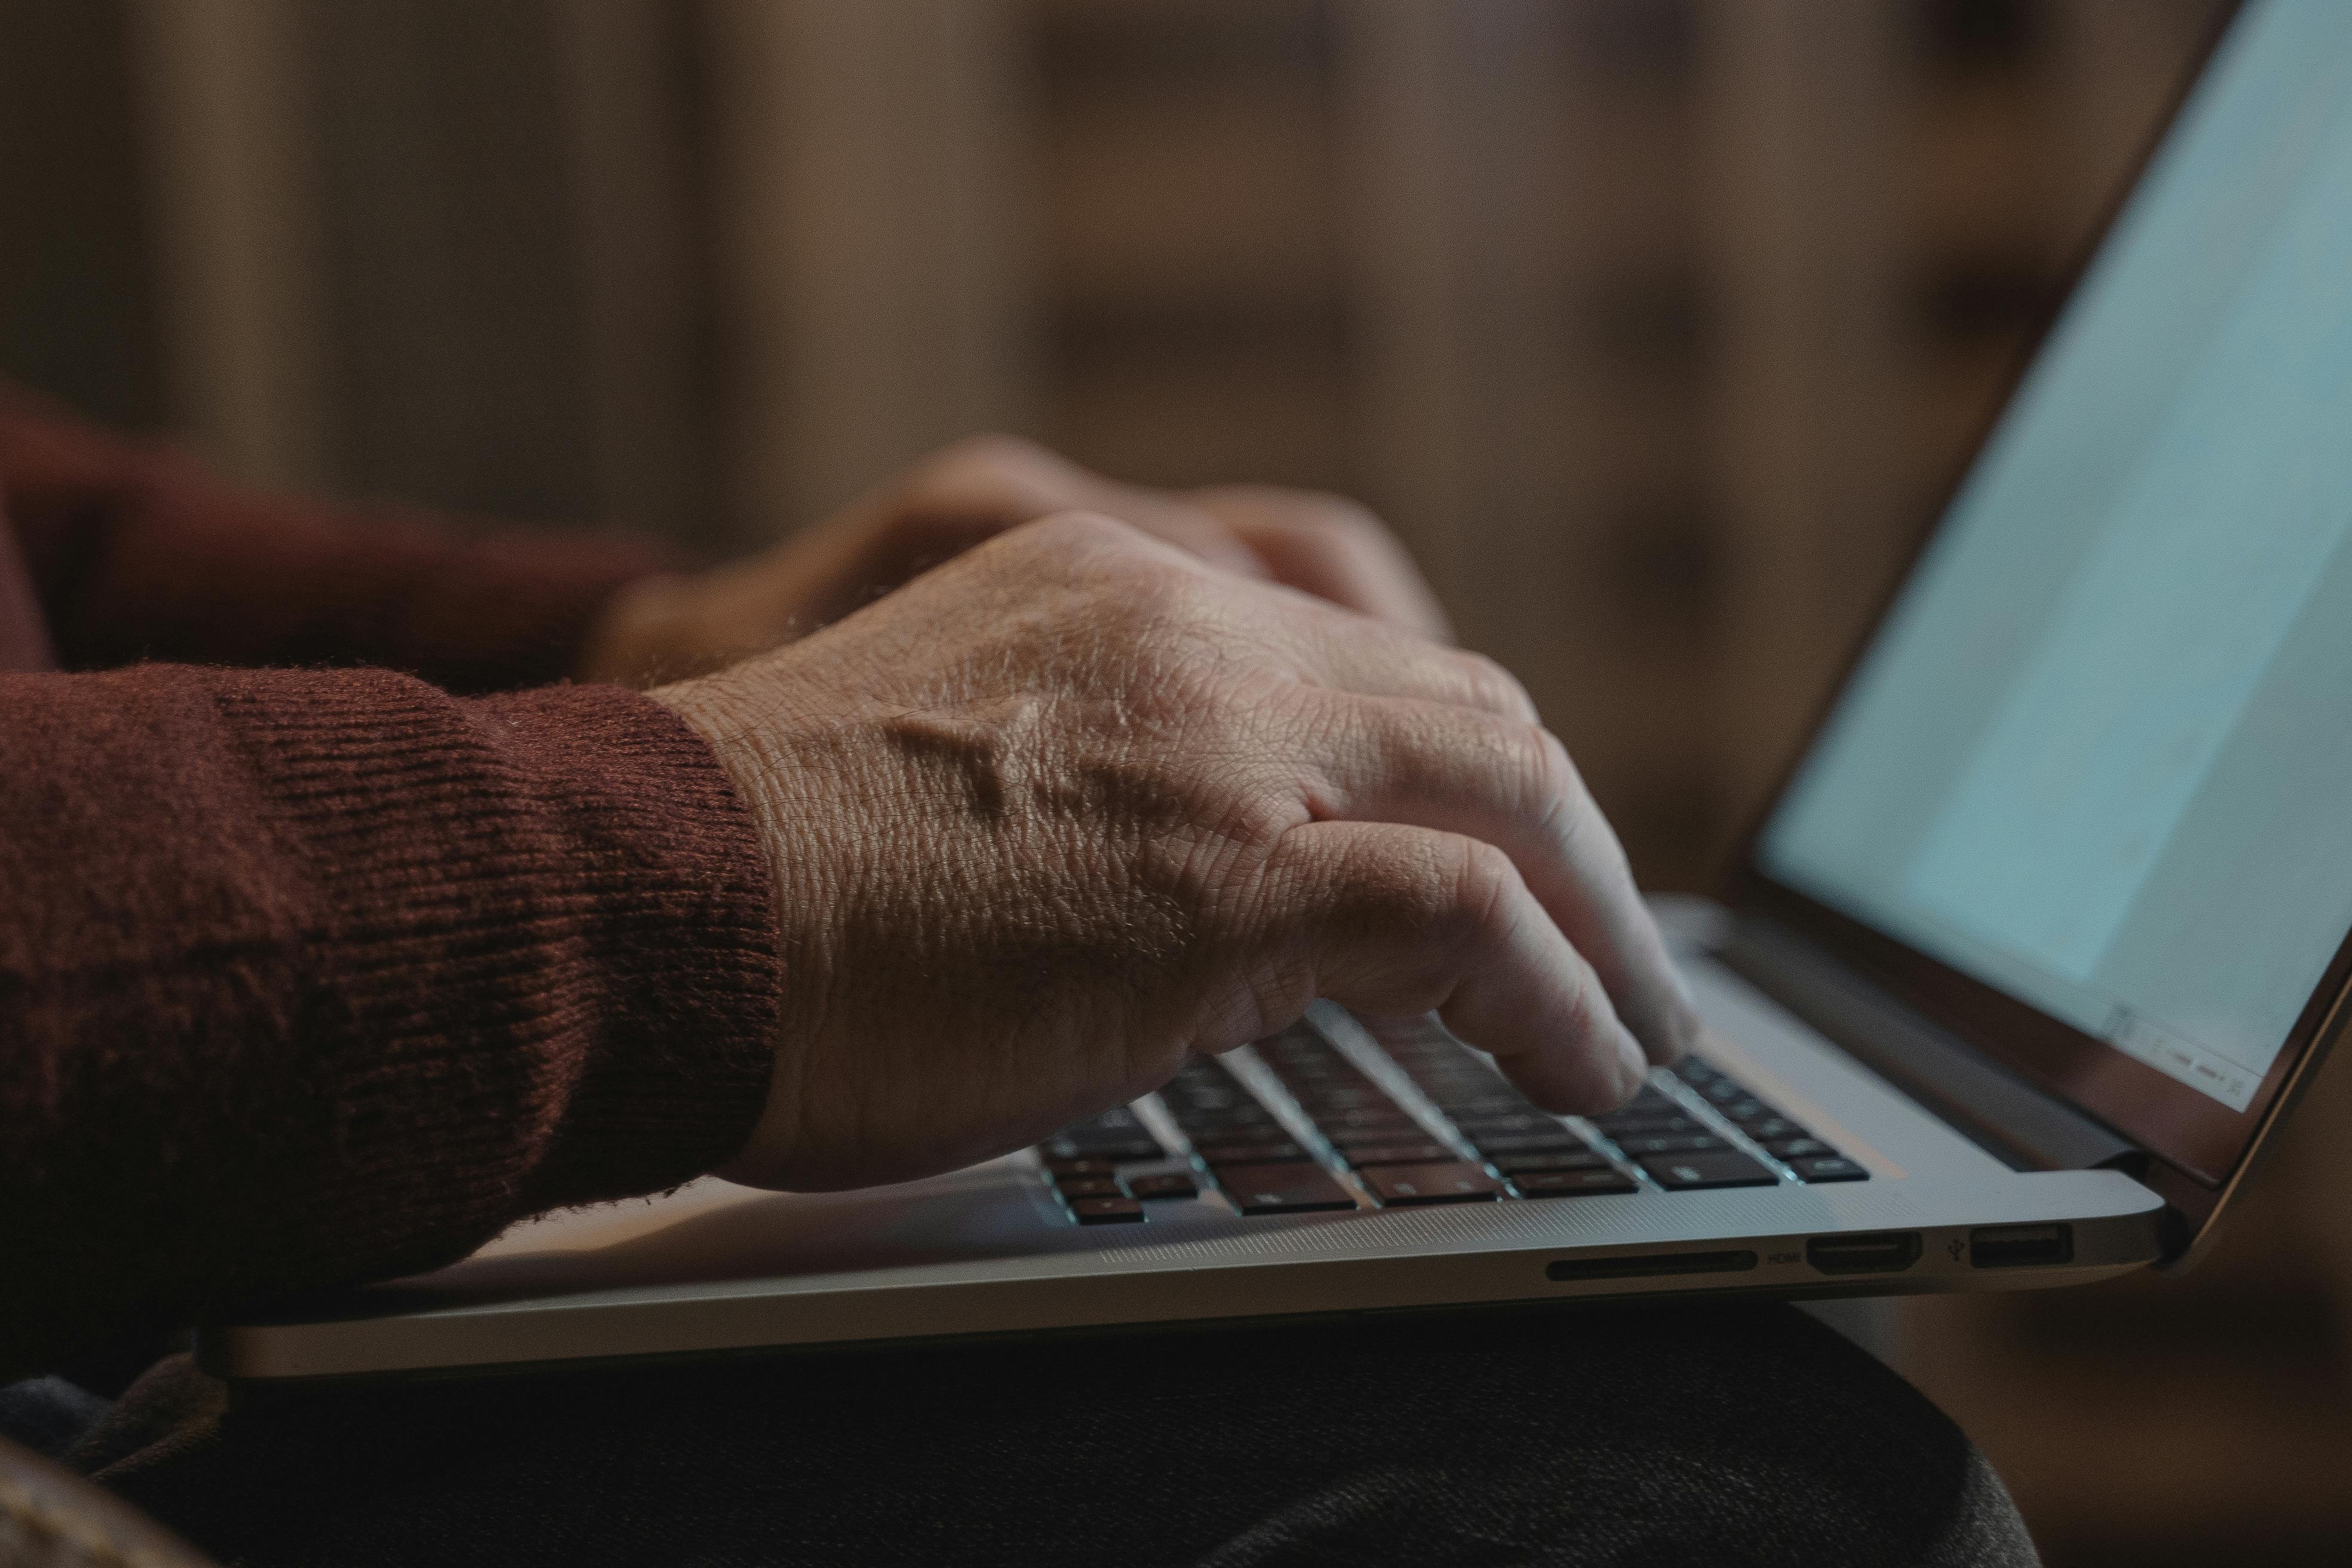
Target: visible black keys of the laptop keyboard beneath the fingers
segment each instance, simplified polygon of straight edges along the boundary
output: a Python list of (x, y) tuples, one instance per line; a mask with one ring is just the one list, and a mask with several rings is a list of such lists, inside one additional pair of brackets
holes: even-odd
[[(1195, 1056), (1157, 1095), (1185, 1147), (1122, 1105), (1037, 1145), (1040, 1166), (1080, 1225), (1136, 1225), (1216, 1199), (1277, 1215), (1870, 1178), (1696, 1056), (1651, 1074), (1621, 1110), (1571, 1121), (1435, 1025), (1383, 1046), (1437, 1119), (1301, 1023), (1256, 1046), (1282, 1095), (1258, 1095), (1244, 1074)], [(1284, 1095), (1284, 1112), (1298, 1114), (1277, 1114)]]

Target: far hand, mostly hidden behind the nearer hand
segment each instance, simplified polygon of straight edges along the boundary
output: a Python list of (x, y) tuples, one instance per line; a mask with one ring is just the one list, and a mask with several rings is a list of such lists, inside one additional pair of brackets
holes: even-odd
[(699, 576), (626, 588), (588, 637), (583, 679), (684, 679), (840, 621), (983, 538), (1049, 512), (1117, 517), (1228, 571), (1270, 578), (1446, 639), (1411, 557), (1341, 496), (1225, 487), (1188, 496), (1115, 484), (1007, 435), (917, 463), (800, 538)]

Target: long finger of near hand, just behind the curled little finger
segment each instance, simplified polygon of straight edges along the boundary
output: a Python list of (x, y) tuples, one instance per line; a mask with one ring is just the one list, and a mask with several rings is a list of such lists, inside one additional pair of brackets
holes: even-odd
[(1698, 1013), (1632, 882), (1625, 849), (1550, 731), (1444, 703), (1338, 698), (1317, 736), (1322, 818), (1494, 844), (1592, 964), (1651, 1060), (1679, 1060)]

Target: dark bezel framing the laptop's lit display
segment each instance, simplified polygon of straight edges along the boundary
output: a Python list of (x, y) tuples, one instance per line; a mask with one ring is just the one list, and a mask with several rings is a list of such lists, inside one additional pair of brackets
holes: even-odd
[[(2027, 334), (1992, 416), (1983, 423), (1966, 458), (1945, 484), (1943, 503), (1936, 508), (1933, 522), (1917, 541), (1912, 564), (1917, 564), (1917, 555), (1926, 550), (1929, 541), (1933, 541), (1933, 536), (1943, 529), (1943, 522), (1950, 517), (1952, 501), (1959, 496), (1969, 473), (1983, 456), (1983, 449), (1992, 437), (1992, 430), (1999, 425), (2002, 414), (2009, 409), (2009, 402), (2016, 397), (2018, 386), (2025, 381), (2034, 360), (2039, 360), (2051, 329), (2079, 292), (2082, 277), (2114, 228), (2117, 214), (2122, 214), (2131, 193), (2140, 186), (2150, 160), (2178, 122), (2183, 103), (2194, 92), (2197, 82), (2204, 80), (2213, 54), (2230, 35), (2230, 28), (2244, 9), (2244, 0), (2230, 0), (2230, 5), (2220, 7), (2216, 14), (2213, 28), (2204, 40), (2204, 47), (2197, 52), (2192, 68), (2176, 87), (2169, 110), (2140, 148), (2131, 179), (2122, 181), (2103, 221), (2096, 226), (2091, 240), (2082, 247), (2074, 266), (2067, 270), (2065, 287), (2056, 292), (2034, 331)], [(1780, 806), (1780, 799), (1788, 795), (1790, 780), (1818, 741), (1830, 712), (1835, 712), (1837, 698), (1844, 696), (1844, 689), (1863, 656), (1877, 642), (1886, 616), (1900, 599), (1910, 576), (1912, 574), (1905, 571), (1882, 599), (1870, 621), (1867, 635), (1856, 642), (1839, 679), (1830, 689), (1828, 701), (1816, 712), (1813, 726), (1806, 731), (1806, 743), (1790, 759), (1790, 766), (1783, 771), (1764, 811), (1750, 823), (1736, 860), (1738, 884), (1731, 891), (1733, 907), (1764, 914), (1766, 919), (1799, 931), (1842, 961), (1870, 976), (1907, 1006), (1915, 1006), (1938, 1025), (1947, 1027), (1966, 1044), (1999, 1060), (2027, 1081), (2039, 1084), (2049, 1093), (2067, 1100), (2077, 1110), (2105, 1121), (2164, 1164), (2178, 1168), (2183, 1175), (2211, 1190), (2225, 1187), (2258, 1140), (2281, 1088), (2286, 1088), (2293, 1079), (2296, 1067), (2312, 1051), (2328, 1023), (2328, 1016), (2336, 1011), (2336, 1001), (2345, 992), (2347, 978), (2352, 978), (2352, 933), (2345, 933), (2345, 940), (2338, 945), (2336, 957), (2328, 961), (2317, 990), (2296, 1018), (2296, 1027), (2288, 1032), (2277, 1060), (2272, 1060), (2270, 1070), (2263, 1074), (2263, 1084), (2256, 1088), (2253, 1100), (2249, 1100), (2244, 1112), (2234, 1112), (2220, 1100), (2213, 1100), (2197, 1088), (2190, 1088), (2187, 1084), (2124, 1056), (2096, 1034), (2084, 1034), (2082, 1030), (2018, 1001), (1985, 980), (1978, 980), (1943, 959), (1929, 957), (1926, 952), (1896, 940), (1828, 903), (1820, 903), (1818, 898), (1771, 877), (1764, 870), (1759, 856), (1764, 827)]]

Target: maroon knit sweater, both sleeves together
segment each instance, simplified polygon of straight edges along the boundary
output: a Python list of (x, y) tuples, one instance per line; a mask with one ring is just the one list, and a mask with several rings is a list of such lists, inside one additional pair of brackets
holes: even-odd
[(560, 684), (644, 552), (261, 501), (7, 390), (0, 487), (0, 1380), (741, 1147), (753, 825)]

